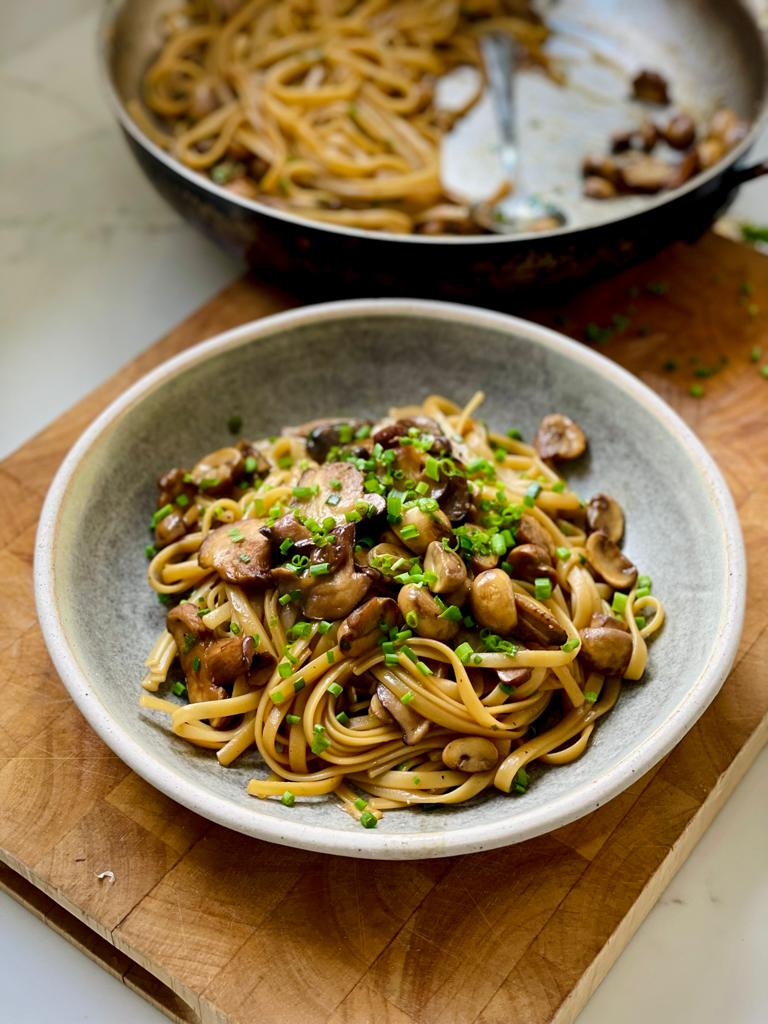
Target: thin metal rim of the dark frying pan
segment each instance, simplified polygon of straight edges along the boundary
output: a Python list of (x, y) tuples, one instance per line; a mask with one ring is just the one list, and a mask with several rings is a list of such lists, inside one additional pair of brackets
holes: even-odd
[(310, 217), (302, 217), (300, 214), (292, 213), (290, 210), (281, 210), (276, 207), (268, 206), (266, 203), (259, 202), (259, 200), (246, 199), (244, 196), (238, 196), (237, 194), (229, 191), (227, 188), (224, 188), (222, 185), (217, 185), (215, 181), (206, 177), (205, 174), (185, 167), (181, 161), (176, 160), (170, 154), (166, 153), (161, 146), (144, 134), (142, 129), (128, 113), (123, 97), (120, 95), (117, 85), (115, 84), (111, 66), (111, 47), (115, 23), (117, 22), (120, 12), (128, 2), (129, 0), (108, 0), (101, 10), (97, 31), (97, 58), (101, 82), (104, 87), (106, 101), (112, 108), (112, 111), (123, 131), (125, 131), (137, 145), (141, 146), (142, 150), (154, 157), (155, 160), (163, 164), (169, 171), (171, 171), (171, 173), (175, 174), (177, 177), (183, 178), (187, 183), (199, 187), (202, 191), (208, 193), (210, 196), (219, 200), (219, 202), (229, 203), (233, 207), (240, 207), (241, 210), (247, 210), (250, 213), (257, 214), (262, 217), (283, 221), (286, 224), (323, 231), (332, 236), (336, 234), (357, 239), (369, 239), (373, 242), (380, 242), (382, 244), (389, 243), (390, 245), (449, 245), (454, 247), (471, 247), (502, 245), (504, 243), (510, 244), (514, 242), (546, 244), (551, 239), (568, 239), (570, 236), (575, 236), (579, 232), (592, 232), (600, 231), (603, 228), (616, 228), (622, 223), (633, 222), (640, 217), (646, 216), (646, 214), (651, 213), (652, 211), (659, 211), (668, 204), (673, 203), (675, 200), (682, 199), (684, 196), (697, 191), (698, 188), (725, 174), (733, 173), (738, 162), (749, 153), (755, 144), (761, 131), (768, 125), (768, 34), (760, 30), (756, 14), (750, 6), (748, 0), (734, 0), (734, 9), (737, 8), (739, 16), (749, 20), (755, 29), (762, 60), (763, 91), (756, 111), (750, 117), (750, 130), (740, 142), (734, 145), (733, 148), (729, 150), (727, 153), (723, 154), (720, 160), (713, 164), (712, 167), (706, 168), (703, 171), (698, 171), (696, 174), (692, 175), (688, 181), (683, 182), (683, 184), (679, 185), (677, 188), (672, 188), (668, 191), (660, 191), (652, 197), (646, 197), (646, 204), (642, 209), (631, 213), (622, 213), (618, 211), (614, 216), (609, 217), (606, 220), (601, 220), (595, 224), (578, 225), (565, 223), (561, 227), (552, 228), (547, 231), (520, 231), (517, 234), (490, 233), (467, 236), (429, 236), (417, 234), (415, 232), (397, 234), (394, 231), (378, 231), (365, 227), (351, 227), (344, 224), (325, 223), (321, 220), (312, 220)]

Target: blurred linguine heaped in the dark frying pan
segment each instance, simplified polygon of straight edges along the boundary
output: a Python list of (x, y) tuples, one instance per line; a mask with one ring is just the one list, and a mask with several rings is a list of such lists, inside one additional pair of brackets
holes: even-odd
[(128, 109), (191, 170), (304, 217), (391, 232), (477, 233), (440, 184), (434, 87), (480, 67), (478, 34), (546, 66), (547, 29), (504, 0), (191, 0)]

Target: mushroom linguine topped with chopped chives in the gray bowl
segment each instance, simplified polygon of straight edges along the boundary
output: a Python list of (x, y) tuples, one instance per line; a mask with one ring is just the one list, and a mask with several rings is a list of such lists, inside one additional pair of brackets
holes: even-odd
[(161, 478), (148, 580), (171, 607), (141, 705), (221, 765), (255, 749), (254, 797), (333, 795), (374, 827), (523, 793), (642, 677), (664, 608), (622, 509), (553, 468), (584, 434), (554, 414), (531, 446), (481, 400), (316, 421)]

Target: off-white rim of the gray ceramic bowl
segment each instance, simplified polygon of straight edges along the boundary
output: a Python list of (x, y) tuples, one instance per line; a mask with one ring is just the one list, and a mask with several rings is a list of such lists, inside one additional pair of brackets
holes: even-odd
[[(330, 824), (308, 825), (259, 813), (258, 802), (239, 807), (205, 788), (191, 777), (146, 757), (145, 744), (119, 725), (110, 709), (92, 692), (77, 652), (68, 641), (58, 610), (55, 582), (55, 549), (60, 518), (66, 511), (73, 479), (83, 460), (102, 435), (128, 415), (144, 396), (183, 371), (214, 355), (258, 343), (275, 333), (309, 324), (334, 323), (370, 316), (416, 316), (435, 325), (450, 321), (472, 327), (500, 330), (542, 345), (607, 379), (620, 391), (645, 407), (667, 432), (684, 449), (698, 470), (719, 518), (722, 530), (725, 579), (722, 581), (720, 622), (709, 657), (697, 679), (664, 721), (600, 778), (589, 779), (575, 790), (544, 805), (535, 802), (515, 814), (466, 828), (441, 833), (366, 830), (364, 837)], [(490, 850), (522, 842), (558, 828), (596, 810), (617, 796), (636, 778), (656, 764), (693, 726), (725, 681), (735, 658), (744, 615), (746, 567), (743, 541), (733, 499), (713, 458), (702, 443), (658, 395), (627, 370), (607, 357), (521, 317), (457, 303), (420, 299), (357, 299), (304, 306), (232, 328), (162, 362), (141, 377), (91, 423), (73, 445), (58, 468), (47, 493), (37, 529), (34, 584), (38, 617), (53, 665), (81, 713), (115, 754), (147, 782), (202, 816), (256, 839), (286, 846), (372, 859), (440, 857)]]

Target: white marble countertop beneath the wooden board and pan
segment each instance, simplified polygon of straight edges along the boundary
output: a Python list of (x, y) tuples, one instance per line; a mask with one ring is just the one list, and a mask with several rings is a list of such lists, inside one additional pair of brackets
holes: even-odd
[[(2, 457), (240, 266), (183, 224), (130, 159), (96, 74), (98, 3), (0, 7)], [(768, 184), (744, 189), (736, 209), (768, 223)], [(580, 1024), (762, 1024), (767, 965), (764, 752)], [(164, 1020), (6, 896), (0, 992), (14, 1024)]]

